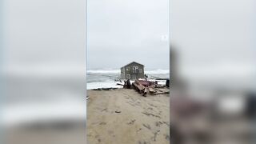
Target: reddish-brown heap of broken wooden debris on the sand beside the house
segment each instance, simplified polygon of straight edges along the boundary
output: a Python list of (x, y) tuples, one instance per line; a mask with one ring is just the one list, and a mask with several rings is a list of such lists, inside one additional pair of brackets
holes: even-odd
[[(158, 85), (158, 82), (150, 82), (146, 80), (135, 80), (132, 83), (134, 90), (146, 97), (146, 94), (169, 94), (170, 90), (164, 85)], [(167, 86), (168, 87), (168, 86)], [(162, 89), (161, 89), (162, 88)]]

